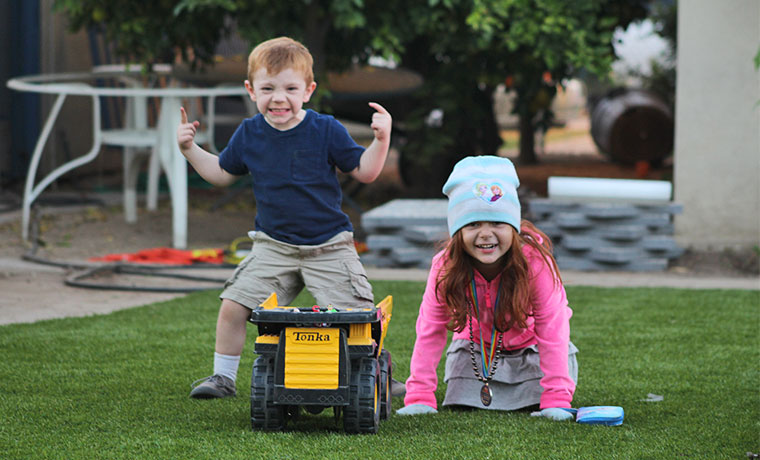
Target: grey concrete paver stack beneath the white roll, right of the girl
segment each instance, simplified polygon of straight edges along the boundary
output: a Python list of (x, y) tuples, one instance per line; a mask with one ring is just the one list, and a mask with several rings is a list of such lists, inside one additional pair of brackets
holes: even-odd
[(529, 217), (554, 243), (560, 269), (660, 271), (683, 254), (673, 238), (673, 202), (527, 200)]

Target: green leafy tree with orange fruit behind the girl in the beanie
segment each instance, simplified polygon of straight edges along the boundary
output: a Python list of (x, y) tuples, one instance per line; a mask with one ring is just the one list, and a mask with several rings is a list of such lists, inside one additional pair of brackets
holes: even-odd
[[(617, 27), (646, 16), (647, 0), (430, 0), (407, 7), (415, 33), (401, 63), (425, 76), (402, 151), (407, 183), (423, 175), (437, 192), (460, 158), (493, 154), (501, 139), (492, 94), (506, 80), (516, 92), (520, 163), (536, 162), (534, 133), (547, 129), (557, 83), (588, 74), (606, 78)], [(442, 121), (424, 120), (434, 109)]]

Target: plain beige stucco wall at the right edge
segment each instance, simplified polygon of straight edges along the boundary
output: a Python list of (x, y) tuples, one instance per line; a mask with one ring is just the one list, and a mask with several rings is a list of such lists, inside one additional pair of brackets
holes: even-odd
[(760, 244), (760, 1), (678, 2), (676, 240)]

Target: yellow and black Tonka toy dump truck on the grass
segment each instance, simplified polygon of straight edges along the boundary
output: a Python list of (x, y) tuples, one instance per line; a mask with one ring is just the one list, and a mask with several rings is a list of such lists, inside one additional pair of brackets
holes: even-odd
[(259, 336), (251, 377), (254, 430), (283, 430), (300, 408), (332, 407), (347, 433), (377, 433), (391, 415), (391, 355), (383, 349), (391, 296), (373, 308), (277, 305), (251, 312)]

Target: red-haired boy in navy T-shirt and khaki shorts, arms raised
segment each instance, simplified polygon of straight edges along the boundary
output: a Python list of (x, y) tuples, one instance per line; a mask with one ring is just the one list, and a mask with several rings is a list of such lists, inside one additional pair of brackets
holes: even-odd
[[(259, 44), (248, 57), (245, 89), (259, 114), (243, 120), (215, 156), (193, 141), (199, 126), (182, 109), (177, 142), (206, 181), (227, 186), (250, 173), (256, 196), (253, 249), (227, 280), (216, 324), (214, 374), (190, 396), (234, 396), (251, 309), (272, 293), (288, 305), (306, 286), (319, 305), (371, 307), (372, 287), (354, 247), (352, 226), (341, 210), (335, 168), (368, 183), (388, 154), (391, 116), (379, 104), (375, 138), (361, 147), (333, 117), (304, 110), (317, 84), (312, 57), (287, 37)], [(197, 383), (197, 382), (196, 382)]]

